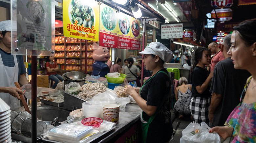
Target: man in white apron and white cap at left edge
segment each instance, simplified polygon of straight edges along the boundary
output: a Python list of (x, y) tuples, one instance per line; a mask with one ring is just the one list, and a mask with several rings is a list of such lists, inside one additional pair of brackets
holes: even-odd
[[(16, 28), (15, 28), (16, 30)], [(11, 109), (20, 107), (20, 94), (24, 94), (15, 87), (14, 82), (21, 86), (28, 83), (23, 56), (11, 55), (11, 21), (0, 22), (0, 98)]]

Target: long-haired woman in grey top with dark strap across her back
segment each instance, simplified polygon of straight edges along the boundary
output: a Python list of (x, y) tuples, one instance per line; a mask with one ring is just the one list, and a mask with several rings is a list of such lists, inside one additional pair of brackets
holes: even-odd
[(140, 87), (140, 82), (138, 77), (140, 76), (139, 69), (133, 65), (133, 58), (128, 58), (128, 64), (126, 67), (124, 67), (123, 72), (126, 74), (126, 79), (128, 82), (136, 81), (137, 87)]

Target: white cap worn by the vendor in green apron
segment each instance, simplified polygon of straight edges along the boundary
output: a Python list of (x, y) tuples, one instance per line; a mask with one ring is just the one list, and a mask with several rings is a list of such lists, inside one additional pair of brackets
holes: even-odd
[(160, 42), (151, 42), (139, 54), (153, 54), (158, 55), (164, 62), (169, 62), (173, 58), (173, 53)]

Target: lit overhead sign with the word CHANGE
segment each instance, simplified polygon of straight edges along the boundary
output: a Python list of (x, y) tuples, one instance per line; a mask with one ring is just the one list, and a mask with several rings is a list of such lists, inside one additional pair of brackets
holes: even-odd
[[(230, 21), (232, 19), (232, 9), (230, 8), (216, 9), (216, 14), (220, 21)], [(215, 11), (212, 10), (211, 18), (217, 18), (216, 14)]]

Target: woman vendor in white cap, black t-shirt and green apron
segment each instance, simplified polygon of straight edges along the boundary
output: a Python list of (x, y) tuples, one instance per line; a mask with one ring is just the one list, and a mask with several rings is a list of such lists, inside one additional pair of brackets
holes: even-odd
[(171, 139), (173, 128), (170, 114), (171, 82), (163, 64), (172, 59), (173, 53), (163, 44), (151, 42), (139, 54), (144, 54), (144, 66), (153, 74), (140, 89), (127, 86), (124, 92), (131, 95), (141, 109), (142, 142), (165, 143)]

